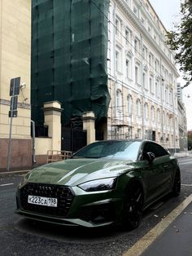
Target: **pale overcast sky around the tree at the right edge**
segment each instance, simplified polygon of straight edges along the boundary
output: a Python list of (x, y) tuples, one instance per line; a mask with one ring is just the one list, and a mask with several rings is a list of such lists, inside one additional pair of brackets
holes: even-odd
[[(150, 0), (150, 2), (165, 28), (172, 29), (174, 22), (179, 21), (181, 0)], [(183, 83), (181, 78), (178, 81)], [(192, 130), (192, 84), (183, 90), (183, 101), (186, 108), (187, 128)]]

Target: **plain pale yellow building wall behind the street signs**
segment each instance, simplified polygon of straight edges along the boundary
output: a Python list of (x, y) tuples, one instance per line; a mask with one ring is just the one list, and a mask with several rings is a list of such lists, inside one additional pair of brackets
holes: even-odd
[(12, 121), (11, 167), (32, 163), (30, 108), (31, 2), (0, 0), (0, 168), (7, 167), (11, 78), (20, 77), (18, 115)]

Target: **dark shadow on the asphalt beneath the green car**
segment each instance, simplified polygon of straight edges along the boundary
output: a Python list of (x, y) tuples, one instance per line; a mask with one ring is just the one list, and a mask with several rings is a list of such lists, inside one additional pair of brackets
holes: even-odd
[[(143, 212), (142, 223), (133, 231), (128, 231), (121, 226), (114, 225), (94, 228), (61, 226), (21, 217), (19, 221), (15, 223), (15, 228), (20, 232), (68, 243), (76, 242), (77, 244), (85, 244), (91, 242), (93, 244), (99, 241), (103, 242), (103, 238), (105, 241), (112, 241), (114, 237), (133, 237), (138, 236), (138, 234), (140, 234), (140, 236), (144, 235), (181, 201), (182, 198), (180, 198), (180, 196), (177, 198), (172, 198), (170, 195), (164, 196), (160, 201), (157, 201)], [(170, 209), (168, 209), (168, 206)]]

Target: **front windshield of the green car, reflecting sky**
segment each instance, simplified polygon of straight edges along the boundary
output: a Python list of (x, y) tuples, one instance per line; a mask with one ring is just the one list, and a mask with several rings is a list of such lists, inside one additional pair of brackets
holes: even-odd
[(72, 158), (118, 158), (135, 161), (140, 141), (100, 141), (91, 143), (76, 152)]

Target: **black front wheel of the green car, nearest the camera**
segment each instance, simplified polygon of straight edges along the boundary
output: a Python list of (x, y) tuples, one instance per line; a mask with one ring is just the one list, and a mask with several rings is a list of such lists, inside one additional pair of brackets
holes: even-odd
[(139, 226), (142, 219), (143, 191), (140, 184), (129, 184), (125, 193), (123, 207), (123, 227), (133, 230)]

